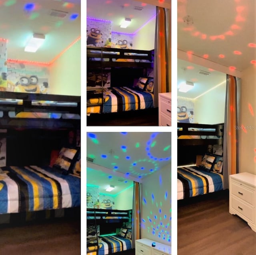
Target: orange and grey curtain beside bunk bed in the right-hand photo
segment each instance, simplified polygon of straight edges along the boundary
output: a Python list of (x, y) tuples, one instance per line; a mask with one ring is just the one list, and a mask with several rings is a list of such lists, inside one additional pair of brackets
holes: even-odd
[(238, 173), (238, 122), (237, 122), (237, 83), (236, 77), (226, 77), (226, 108), (223, 142), (224, 188), (228, 188), (230, 174)]

